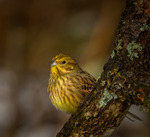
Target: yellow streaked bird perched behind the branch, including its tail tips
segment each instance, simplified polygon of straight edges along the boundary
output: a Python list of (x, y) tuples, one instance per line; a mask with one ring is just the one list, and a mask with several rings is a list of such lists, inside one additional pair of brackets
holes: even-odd
[[(52, 104), (60, 111), (74, 113), (85, 96), (96, 88), (96, 79), (83, 70), (77, 61), (65, 54), (56, 55), (51, 61), (48, 93)], [(131, 112), (132, 118), (142, 121)], [(132, 120), (126, 116), (129, 120)]]

